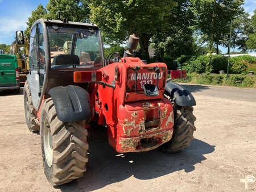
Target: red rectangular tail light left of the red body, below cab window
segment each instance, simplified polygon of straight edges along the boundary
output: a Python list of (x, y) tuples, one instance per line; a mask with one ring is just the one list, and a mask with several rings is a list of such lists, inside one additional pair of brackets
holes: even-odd
[(74, 82), (97, 82), (101, 81), (101, 72), (74, 72)]

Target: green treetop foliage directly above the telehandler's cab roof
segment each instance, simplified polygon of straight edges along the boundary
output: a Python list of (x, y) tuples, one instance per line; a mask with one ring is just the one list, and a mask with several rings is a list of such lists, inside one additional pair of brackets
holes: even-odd
[(85, 22), (89, 18), (88, 3), (91, 2), (86, 0), (49, 0), (46, 8), (49, 18), (59, 19), (58, 12), (60, 12), (61, 19), (67, 18), (73, 22)]

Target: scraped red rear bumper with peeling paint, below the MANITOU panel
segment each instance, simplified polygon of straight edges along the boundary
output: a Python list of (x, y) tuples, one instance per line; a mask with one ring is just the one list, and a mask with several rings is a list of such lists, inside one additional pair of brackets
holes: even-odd
[(171, 140), (173, 114), (172, 105), (167, 99), (121, 105), (117, 126), (108, 127), (109, 143), (121, 153), (155, 149)]

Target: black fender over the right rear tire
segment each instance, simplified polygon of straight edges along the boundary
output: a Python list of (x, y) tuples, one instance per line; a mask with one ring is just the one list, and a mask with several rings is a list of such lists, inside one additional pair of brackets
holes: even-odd
[(165, 92), (167, 92), (172, 101), (174, 101), (179, 106), (195, 106), (196, 100), (193, 95), (185, 89), (185, 87), (176, 84), (175, 82), (167, 82), (165, 87)]

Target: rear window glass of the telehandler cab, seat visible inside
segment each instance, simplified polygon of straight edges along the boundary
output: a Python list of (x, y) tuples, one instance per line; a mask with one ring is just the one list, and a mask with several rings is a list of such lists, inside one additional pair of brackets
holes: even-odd
[(48, 26), (48, 32), (52, 69), (102, 67), (98, 30)]

